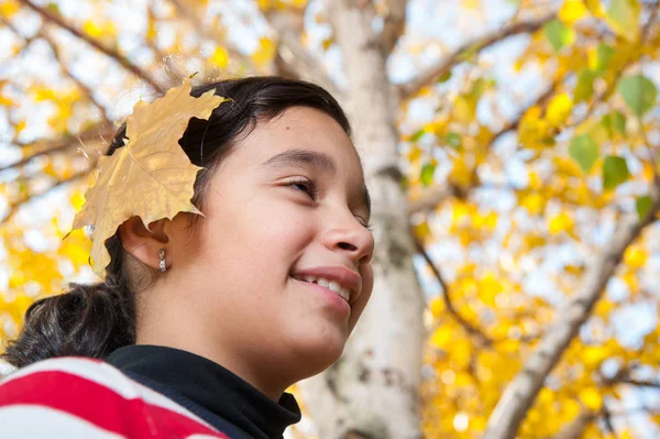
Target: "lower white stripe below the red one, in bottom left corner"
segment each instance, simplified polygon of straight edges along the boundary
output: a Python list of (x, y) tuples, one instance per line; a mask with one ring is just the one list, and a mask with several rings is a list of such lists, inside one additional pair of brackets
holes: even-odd
[(77, 416), (36, 405), (0, 408), (2, 439), (89, 438), (125, 439)]

